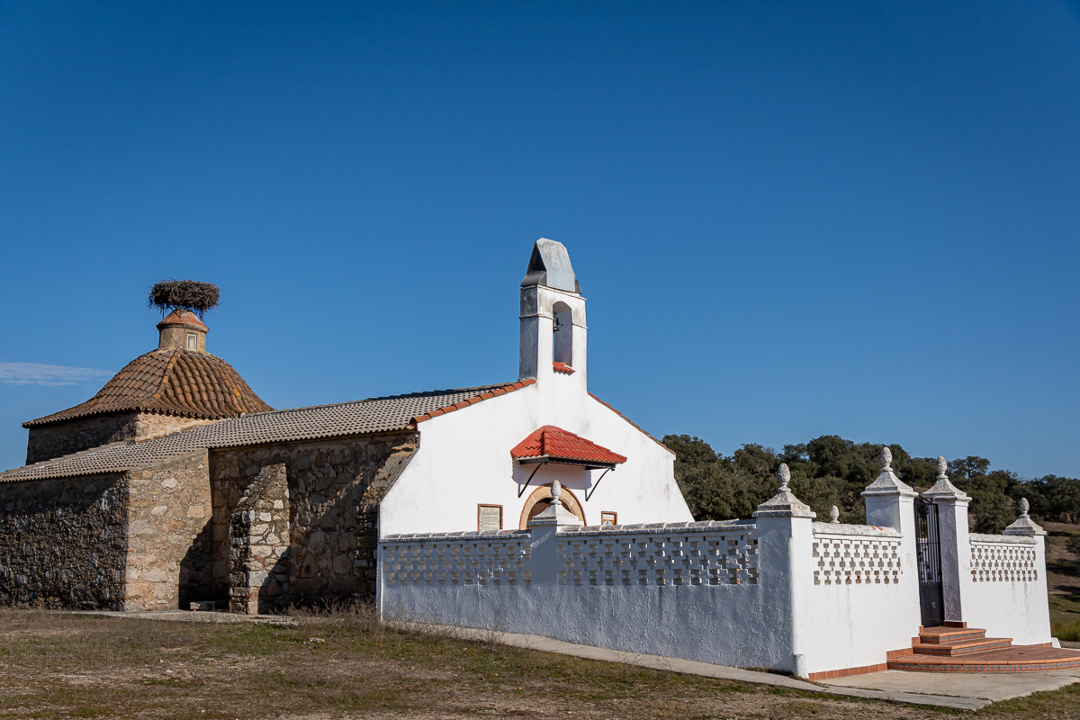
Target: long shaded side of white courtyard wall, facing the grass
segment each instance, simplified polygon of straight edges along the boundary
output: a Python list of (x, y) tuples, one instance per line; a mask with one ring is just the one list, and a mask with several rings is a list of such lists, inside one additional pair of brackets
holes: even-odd
[[(765, 568), (778, 563), (760, 553), (755, 525), (563, 530), (383, 538), (380, 612), (387, 620), (795, 669), (789, 624), (778, 622), (787, 579), (782, 566), (768, 574)], [(513, 574), (502, 565), (508, 557)]]

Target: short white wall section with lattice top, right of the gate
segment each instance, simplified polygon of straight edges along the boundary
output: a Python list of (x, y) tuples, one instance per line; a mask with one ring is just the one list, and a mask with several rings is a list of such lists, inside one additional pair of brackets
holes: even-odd
[(968, 545), (960, 585), (968, 626), (1013, 644), (1051, 642), (1043, 536), (971, 533)]

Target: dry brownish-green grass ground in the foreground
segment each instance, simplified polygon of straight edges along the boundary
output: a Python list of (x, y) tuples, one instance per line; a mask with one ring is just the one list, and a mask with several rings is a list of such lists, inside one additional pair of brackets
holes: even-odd
[[(0, 610), (0, 718), (940, 718), (837, 698), (389, 629), (369, 608), (288, 625)], [(1080, 693), (978, 716), (1080, 718)]]

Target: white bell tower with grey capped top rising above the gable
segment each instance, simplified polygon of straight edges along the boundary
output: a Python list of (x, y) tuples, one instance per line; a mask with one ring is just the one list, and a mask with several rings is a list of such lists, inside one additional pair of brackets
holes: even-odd
[(548, 382), (563, 376), (585, 384), (585, 298), (563, 243), (541, 237), (522, 281), (518, 379)]

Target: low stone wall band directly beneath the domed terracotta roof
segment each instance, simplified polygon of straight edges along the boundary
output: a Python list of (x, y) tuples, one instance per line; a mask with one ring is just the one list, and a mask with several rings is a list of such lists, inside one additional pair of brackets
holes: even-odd
[(162, 437), (211, 422), (217, 420), (158, 412), (118, 412), (30, 427), (26, 444), (26, 464), (81, 452), (107, 443)]

